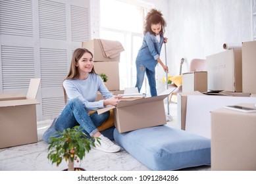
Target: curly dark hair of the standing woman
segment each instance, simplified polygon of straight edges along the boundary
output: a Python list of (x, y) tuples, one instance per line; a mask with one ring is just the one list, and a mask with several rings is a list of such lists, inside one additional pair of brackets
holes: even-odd
[(160, 34), (164, 34), (166, 21), (165, 21), (165, 18), (163, 18), (163, 14), (161, 13), (161, 11), (157, 11), (156, 9), (151, 9), (147, 13), (147, 16), (145, 17), (143, 34), (145, 35), (146, 32), (155, 34), (151, 30), (151, 24), (159, 24), (159, 23), (162, 25)]

